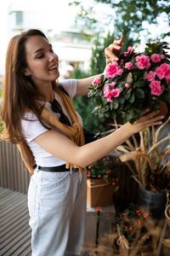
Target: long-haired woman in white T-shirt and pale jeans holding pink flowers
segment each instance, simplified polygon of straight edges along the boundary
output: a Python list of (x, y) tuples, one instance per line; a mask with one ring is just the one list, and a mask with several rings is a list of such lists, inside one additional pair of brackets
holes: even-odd
[[(105, 49), (106, 63), (117, 59), (121, 38)], [(88, 94), (94, 77), (59, 84), (59, 59), (39, 30), (8, 44), (3, 91), (3, 139), (17, 143), (34, 173), (28, 191), (33, 256), (80, 255), (86, 214), (85, 167), (109, 154), (134, 133), (161, 123), (144, 111), (133, 125), (84, 144), (82, 120), (71, 99)], [(61, 86), (62, 85), (62, 86)], [(36, 164), (36, 165), (35, 165)]]

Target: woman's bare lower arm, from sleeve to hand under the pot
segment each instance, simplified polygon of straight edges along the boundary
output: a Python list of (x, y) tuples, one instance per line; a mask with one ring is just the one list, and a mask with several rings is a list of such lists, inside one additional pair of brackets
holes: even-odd
[[(148, 110), (149, 111), (149, 110)], [(147, 113), (142, 116), (133, 125), (127, 123), (121, 128), (112, 132), (93, 143), (88, 143), (78, 147), (68, 137), (56, 131), (46, 131), (35, 138), (35, 142), (50, 154), (59, 157), (66, 162), (71, 162), (77, 166), (89, 166), (94, 161), (99, 160), (105, 155), (111, 153), (116, 147), (124, 143), (128, 137), (134, 133), (143, 130), (150, 125), (160, 125), (163, 117), (154, 117), (156, 113)]]

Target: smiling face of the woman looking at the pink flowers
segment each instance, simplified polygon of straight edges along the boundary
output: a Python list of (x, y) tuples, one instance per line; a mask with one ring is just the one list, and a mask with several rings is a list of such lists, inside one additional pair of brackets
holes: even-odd
[(37, 86), (59, 78), (59, 59), (46, 38), (32, 36), (26, 41), (25, 75), (31, 76)]

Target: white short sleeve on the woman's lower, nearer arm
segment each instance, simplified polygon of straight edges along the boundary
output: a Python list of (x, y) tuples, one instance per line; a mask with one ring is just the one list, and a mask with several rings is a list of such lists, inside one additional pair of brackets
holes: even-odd
[(25, 114), (24, 119), (21, 120), (21, 127), (27, 143), (48, 131), (48, 129), (42, 126), (34, 113)]

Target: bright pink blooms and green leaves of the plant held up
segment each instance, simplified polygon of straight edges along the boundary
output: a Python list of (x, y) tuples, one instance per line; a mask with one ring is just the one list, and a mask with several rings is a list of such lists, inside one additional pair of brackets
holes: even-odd
[(144, 108), (158, 111), (160, 101), (170, 103), (170, 65), (167, 43), (146, 44), (144, 53), (133, 47), (109, 63), (97, 76), (88, 93), (94, 99), (94, 113), (123, 124), (133, 122)]

